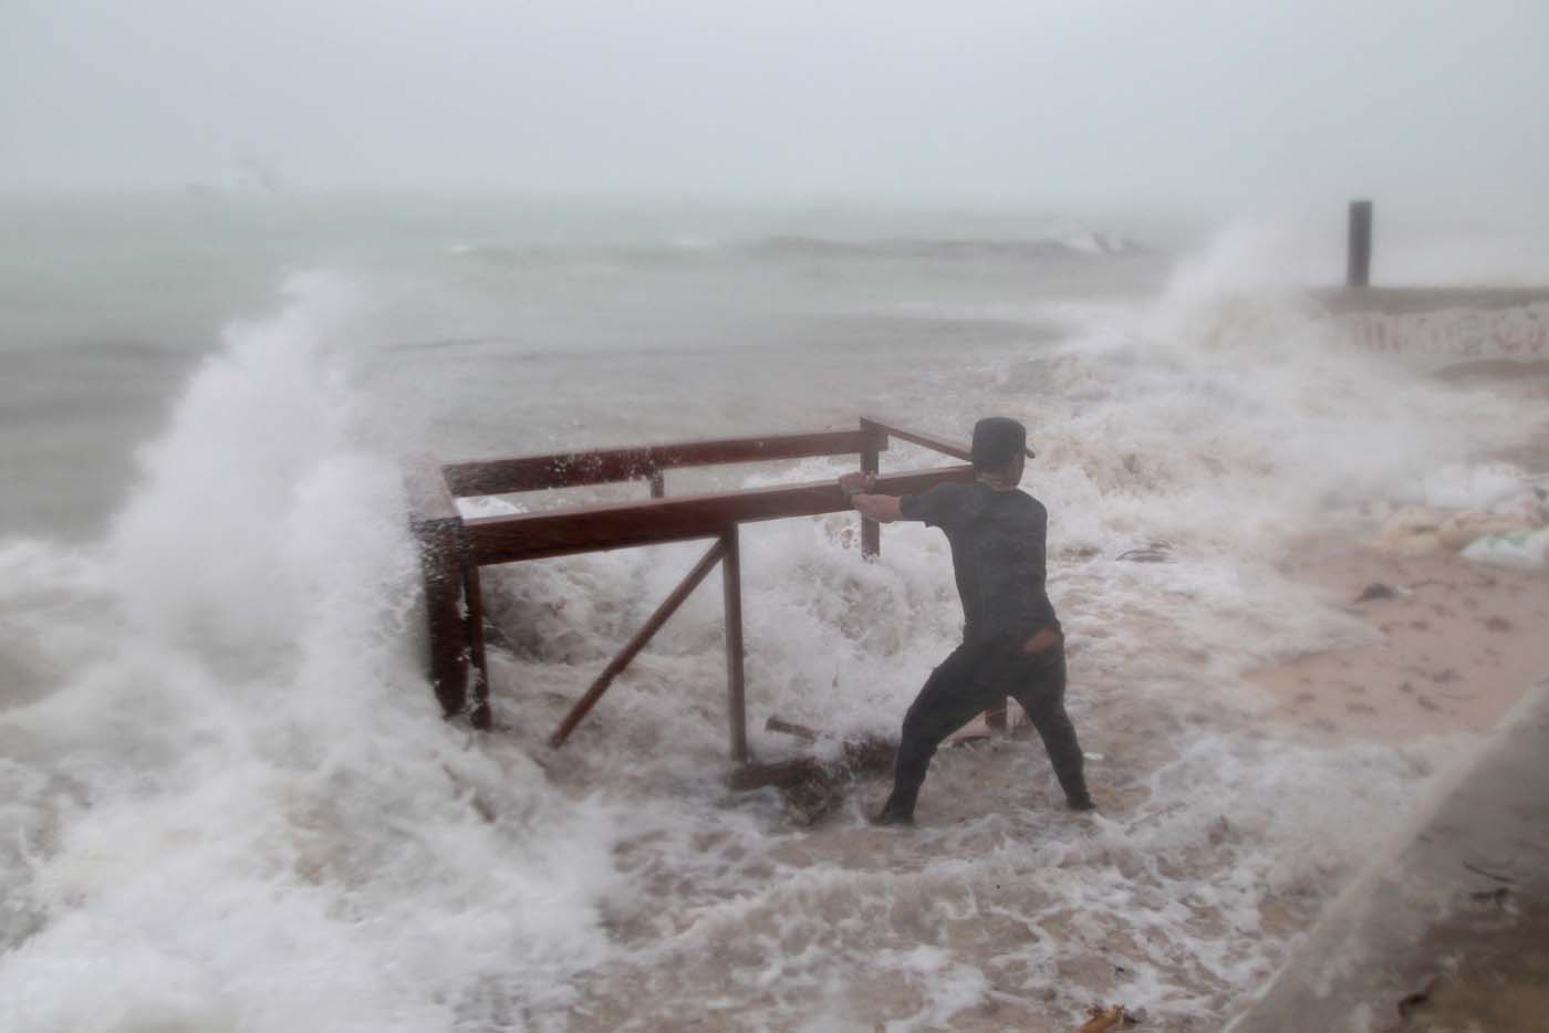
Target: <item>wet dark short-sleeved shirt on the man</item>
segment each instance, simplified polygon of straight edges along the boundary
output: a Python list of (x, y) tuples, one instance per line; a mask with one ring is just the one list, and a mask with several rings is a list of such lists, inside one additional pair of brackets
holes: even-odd
[(1044, 589), (1049, 511), (1025, 491), (936, 485), (898, 500), (905, 519), (946, 531), (963, 602), (963, 641), (1027, 638), (1060, 627)]

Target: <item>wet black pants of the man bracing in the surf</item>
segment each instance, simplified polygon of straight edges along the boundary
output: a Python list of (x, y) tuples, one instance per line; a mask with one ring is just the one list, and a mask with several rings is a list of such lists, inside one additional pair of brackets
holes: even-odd
[(1072, 807), (1090, 805), (1081, 745), (1064, 709), (1064, 646), (1024, 654), (1019, 643), (963, 643), (931, 677), (903, 717), (892, 796), (883, 816), (908, 821), (936, 748), (974, 716), (1010, 695), (1027, 712), (1049, 751), (1055, 777)]

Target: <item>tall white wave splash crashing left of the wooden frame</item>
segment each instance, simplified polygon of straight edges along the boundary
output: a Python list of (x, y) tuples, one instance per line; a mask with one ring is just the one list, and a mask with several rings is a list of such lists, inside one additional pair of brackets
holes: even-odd
[(108, 542), (0, 554), (53, 681), (0, 717), (0, 1028), (477, 1027), (606, 951), (612, 832), (437, 720), (338, 287), (290, 291), (194, 378)]

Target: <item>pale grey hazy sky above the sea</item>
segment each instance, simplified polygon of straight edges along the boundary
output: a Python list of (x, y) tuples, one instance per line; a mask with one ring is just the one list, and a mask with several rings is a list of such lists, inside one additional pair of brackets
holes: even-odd
[(0, 189), (1543, 215), (1546, 112), (1546, 0), (0, 0)]

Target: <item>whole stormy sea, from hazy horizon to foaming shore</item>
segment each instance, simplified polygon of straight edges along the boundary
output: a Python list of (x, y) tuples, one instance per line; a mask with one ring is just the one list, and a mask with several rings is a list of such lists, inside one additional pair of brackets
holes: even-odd
[[(218, 197), (0, 221), (0, 1028), (1064, 1030), (1103, 999), (1214, 1028), (1467, 745), (1312, 742), (1244, 675), (1369, 635), (1298, 579), (1309, 539), (1541, 417), (1352, 347), (1252, 228)], [(486, 571), (499, 729), (440, 720), (403, 455), (861, 414), (1029, 424), (1103, 815), (1015, 740), (943, 751), (908, 835), (866, 822), (877, 782), (816, 827), (730, 793), (714, 589), (550, 751), (694, 544)], [(867, 564), (852, 517), (753, 525), (744, 579), (765, 759), (798, 750), (770, 716), (894, 733), (960, 630), (923, 528)]]

